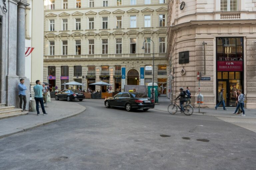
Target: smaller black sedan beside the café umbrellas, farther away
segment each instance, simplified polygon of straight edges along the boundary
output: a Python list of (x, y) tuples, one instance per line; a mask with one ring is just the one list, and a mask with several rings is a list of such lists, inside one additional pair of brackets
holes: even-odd
[(65, 99), (67, 101), (72, 101), (72, 100), (79, 100), (83, 101), (85, 99), (84, 93), (78, 91), (78, 90), (63, 90), (60, 93), (55, 94), (55, 100), (59, 99)]

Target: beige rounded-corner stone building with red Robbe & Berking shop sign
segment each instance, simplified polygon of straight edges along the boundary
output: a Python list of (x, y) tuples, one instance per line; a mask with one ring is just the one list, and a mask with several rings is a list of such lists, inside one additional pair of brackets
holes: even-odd
[(221, 89), (226, 106), (234, 107), (234, 89), (242, 89), (245, 107), (256, 108), (255, 2), (169, 1), (167, 58), (172, 97), (180, 87), (190, 86), (196, 103), (200, 71), (203, 107), (213, 108)]

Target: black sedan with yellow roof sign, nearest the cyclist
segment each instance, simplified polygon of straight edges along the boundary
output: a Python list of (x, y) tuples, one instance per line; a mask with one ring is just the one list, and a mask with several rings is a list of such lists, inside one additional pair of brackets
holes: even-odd
[(105, 99), (106, 108), (121, 107), (130, 112), (132, 109), (143, 109), (147, 111), (150, 108), (154, 108), (154, 100), (147, 97), (143, 93), (137, 92), (120, 92), (114, 97)]

